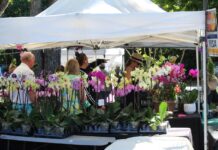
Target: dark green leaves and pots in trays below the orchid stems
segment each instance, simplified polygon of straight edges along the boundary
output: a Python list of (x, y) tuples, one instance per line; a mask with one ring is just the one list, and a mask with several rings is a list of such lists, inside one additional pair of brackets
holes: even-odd
[(90, 107), (71, 113), (57, 108), (56, 100), (43, 100), (28, 114), (25, 109), (12, 108), (11, 102), (5, 99), (0, 117), (0, 132), (11, 135), (64, 138), (73, 134), (163, 134), (167, 128), (163, 124), (167, 103), (160, 105), (158, 113), (151, 108), (136, 112), (132, 104), (121, 109), (119, 102), (109, 103), (105, 110)]

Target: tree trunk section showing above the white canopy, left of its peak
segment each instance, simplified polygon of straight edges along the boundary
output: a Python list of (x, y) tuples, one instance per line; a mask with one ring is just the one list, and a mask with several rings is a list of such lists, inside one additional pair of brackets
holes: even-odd
[(42, 4), (41, 0), (31, 0), (30, 16), (35, 16), (41, 12), (42, 10), (41, 4)]

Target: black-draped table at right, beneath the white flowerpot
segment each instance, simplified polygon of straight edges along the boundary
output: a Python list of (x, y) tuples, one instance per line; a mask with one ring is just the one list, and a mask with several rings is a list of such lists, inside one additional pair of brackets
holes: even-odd
[(193, 136), (194, 149), (203, 150), (204, 136), (200, 114), (186, 115), (185, 117), (178, 117), (176, 114), (173, 118), (169, 119), (169, 122), (171, 127), (190, 128)]

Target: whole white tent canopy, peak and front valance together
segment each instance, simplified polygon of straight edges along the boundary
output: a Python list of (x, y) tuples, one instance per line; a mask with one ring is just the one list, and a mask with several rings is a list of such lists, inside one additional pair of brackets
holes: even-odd
[[(105, 6), (104, 12), (97, 9), (100, 6)], [(126, 43), (195, 47), (199, 31), (205, 28), (204, 15), (203, 11), (163, 12), (149, 0), (59, 0), (38, 17), (1, 18), (0, 48), (16, 44), (28, 49), (111, 48)]]

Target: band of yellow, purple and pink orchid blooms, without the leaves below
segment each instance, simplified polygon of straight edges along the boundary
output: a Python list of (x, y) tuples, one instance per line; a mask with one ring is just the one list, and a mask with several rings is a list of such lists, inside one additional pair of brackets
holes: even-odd
[[(63, 90), (78, 91), (81, 87), (91, 87), (93, 92), (110, 91), (115, 97), (124, 97), (128, 93), (140, 91), (155, 92), (155, 97), (161, 97), (158, 101), (175, 100), (176, 96), (187, 93), (185, 90), (186, 79), (196, 78), (198, 71), (189, 70), (186, 75), (183, 64), (164, 63), (162, 66), (154, 65), (148, 69), (136, 68), (131, 72), (132, 80), (124, 77), (125, 72), (115, 72), (112, 70), (108, 75), (96, 70), (88, 75), (70, 80), (64, 73), (42, 75), (34, 81), (25, 80), (24, 76), (0, 77), (0, 87), (2, 94), (19, 89), (35, 91), (37, 97), (60, 96)], [(190, 77), (189, 77), (190, 76)], [(4, 89), (4, 90), (3, 90)]]

